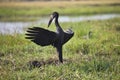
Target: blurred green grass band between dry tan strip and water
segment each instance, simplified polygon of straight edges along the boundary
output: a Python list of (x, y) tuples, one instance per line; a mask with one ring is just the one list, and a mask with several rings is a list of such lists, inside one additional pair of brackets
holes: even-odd
[[(109, 9), (108, 9), (109, 8)], [(45, 16), (53, 11), (58, 11), (63, 15), (90, 15), (101, 13), (120, 13), (120, 6), (72, 6), (72, 7), (1, 7), (0, 16)]]

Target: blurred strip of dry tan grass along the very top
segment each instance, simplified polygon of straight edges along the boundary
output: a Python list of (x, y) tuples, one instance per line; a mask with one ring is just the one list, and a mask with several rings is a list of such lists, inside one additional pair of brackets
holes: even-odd
[(120, 0), (88, 0), (88, 1), (50, 1), (50, 2), (42, 2), (42, 1), (35, 1), (35, 2), (1, 2), (0, 7), (69, 7), (72, 5), (101, 5), (101, 4), (115, 4), (119, 3)]

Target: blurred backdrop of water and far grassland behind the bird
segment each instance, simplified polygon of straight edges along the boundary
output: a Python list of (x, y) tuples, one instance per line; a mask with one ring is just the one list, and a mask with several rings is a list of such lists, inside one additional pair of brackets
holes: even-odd
[(120, 1), (0, 0), (0, 33), (22, 33), (23, 27), (47, 23), (54, 11), (60, 13), (60, 22), (108, 19), (119, 16)]

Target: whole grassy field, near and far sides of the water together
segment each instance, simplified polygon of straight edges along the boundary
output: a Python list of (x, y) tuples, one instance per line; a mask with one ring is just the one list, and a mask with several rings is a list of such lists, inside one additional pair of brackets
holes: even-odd
[[(36, 20), (53, 11), (71, 16), (119, 14), (119, 3), (119, 0), (61, 2), (62, 5), (54, 1), (1, 2), (0, 21)], [(25, 34), (0, 34), (0, 80), (120, 79), (120, 18), (61, 23), (61, 26), (72, 27), (75, 32), (63, 47), (63, 64), (58, 64), (52, 46), (37, 46), (26, 40)], [(52, 24), (48, 29), (55, 30), (55, 26)]]

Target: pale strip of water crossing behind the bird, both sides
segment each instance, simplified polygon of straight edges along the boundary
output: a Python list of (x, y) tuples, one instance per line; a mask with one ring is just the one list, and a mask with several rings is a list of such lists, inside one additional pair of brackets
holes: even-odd
[[(120, 14), (102, 14), (93, 16), (60, 16), (59, 22), (81, 22), (90, 20), (106, 20), (120, 17)], [(48, 23), (49, 17), (43, 17), (34, 22), (0, 22), (0, 34), (23, 33), (25, 27)]]

